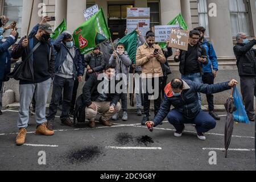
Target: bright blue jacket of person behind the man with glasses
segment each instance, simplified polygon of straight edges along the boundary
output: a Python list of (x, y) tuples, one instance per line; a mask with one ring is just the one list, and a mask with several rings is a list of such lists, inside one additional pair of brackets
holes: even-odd
[(204, 39), (204, 42), (201, 45), (204, 46), (209, 60), (207, 65), (203, 65), (203, 72), (212, 73), (212, 70), (218, 71), (218, 60), (212, 43), (210, 43), (207, 39)]

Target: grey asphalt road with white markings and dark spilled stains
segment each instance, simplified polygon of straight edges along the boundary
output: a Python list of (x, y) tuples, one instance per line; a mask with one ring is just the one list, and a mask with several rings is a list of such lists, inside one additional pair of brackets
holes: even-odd
[[(197, 139), (192, 125), (186, 125), (181, 138), (174, 137), (174, 127), (168, 122), (150, 133), (139, 124), (141, 117), (135, 113), (129, 113), (127, 122), (114, 122), (113, 127), (97, 124), (96, 129), (89, 129), (86, 124), (60, 126), (56, 118), (52, 137), (34, 135), (36, 123), (31, 117), (27, 145), (19, 147), (15, 146), (17, 117), (16, 111), (5, 111), (0, 116), (0, 170), (255, 170), (255, 123), (234, 126), (232, 151), (225, 159), (221, 149), (224, 116), (216, 129), (205, 134), (206, 141)], [(216, 164), (212, 165), (211, 151), (216, 154)], [(46, 165), (42, 164), (44, 154)]]

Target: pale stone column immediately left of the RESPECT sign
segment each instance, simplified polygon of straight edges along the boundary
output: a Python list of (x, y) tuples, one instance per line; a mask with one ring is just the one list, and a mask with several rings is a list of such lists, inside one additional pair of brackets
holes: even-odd
[(86, 0), (68, 0), (67, 3), (67, 30), (73, 32), (85, 22), (83, 11), (86, 9)]

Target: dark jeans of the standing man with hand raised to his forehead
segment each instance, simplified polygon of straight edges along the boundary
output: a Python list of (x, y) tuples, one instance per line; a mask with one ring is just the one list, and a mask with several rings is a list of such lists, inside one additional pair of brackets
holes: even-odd
[(52, 89), (52, 99), (51, 104), (49, 105), (49, 115), (48, 120), (55, 119), (57, 113), (57, 107), (59, 105), (59, 100), (63, 90), (63, 109), (60, 116), (60, 119), (69, 117), (69, 110), (72, 100), (72, 92), (74, 86), (73, 78), (63, 78), (60, 76), (55, 76), (53, 80), (53, 89)]

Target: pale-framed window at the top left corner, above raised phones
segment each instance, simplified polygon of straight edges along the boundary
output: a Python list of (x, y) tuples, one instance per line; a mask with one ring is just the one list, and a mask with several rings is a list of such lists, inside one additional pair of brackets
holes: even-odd
[[(9, 18), (8, 25), (12, 22), (17, 22), (19, 35), (21, 33), (22, 23), (22, 5), (23, 1), (20, 0), (4, 0), (3, 2), (3, 15)], [(4, 36), (9, 36), (10, 31), (6, 31)]]

